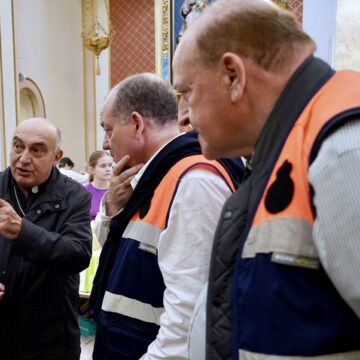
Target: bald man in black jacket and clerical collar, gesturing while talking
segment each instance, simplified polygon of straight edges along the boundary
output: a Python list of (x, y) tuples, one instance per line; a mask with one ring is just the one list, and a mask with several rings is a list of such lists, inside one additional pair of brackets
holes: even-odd
[(60, 174), (60, 131), (15, 130), (0, 173), (0, 357), (77, 360), (78, 273), (91, 257), (90, 194)]

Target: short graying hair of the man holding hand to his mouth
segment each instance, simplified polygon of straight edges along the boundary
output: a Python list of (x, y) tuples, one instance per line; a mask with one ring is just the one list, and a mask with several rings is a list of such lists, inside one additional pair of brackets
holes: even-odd
[(177, 121), (177, 102), (171, 84), (152, 73), (129, 76), (113, 91), (112, 115), (127, 120), (133, 111), (158, 125)]

